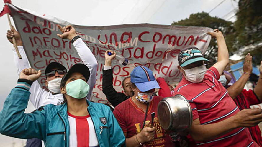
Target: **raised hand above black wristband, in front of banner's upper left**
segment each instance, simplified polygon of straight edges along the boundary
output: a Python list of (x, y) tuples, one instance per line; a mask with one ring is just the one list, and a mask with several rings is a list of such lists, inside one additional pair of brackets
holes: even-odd
[(68, 26), (62, 27), (59, 24), (57, 26), (60, 29), (60, 31), (62, 32), (62, 34), (57, 34), (58, 37), (62, 39), (67, 38), (69, 40), (72, 40), (75, 36), (77, 36), (76, 30), (73, 26), (68, 25)]

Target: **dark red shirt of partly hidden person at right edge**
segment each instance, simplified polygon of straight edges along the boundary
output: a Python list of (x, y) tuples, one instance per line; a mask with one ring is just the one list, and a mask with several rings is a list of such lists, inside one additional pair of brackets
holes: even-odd
[[(234, 101), (240, 110), (250, 109), (250, 105), (256, 105), (261, 103), (253, 90), (247, 91), (245, 89), (243, 89), (242, 93), (238, 95), (234, 99)], [(253, 127), (249, 127), (248, 131), (250, 132), (253, 140), (256, 141), (256, 143), (262, 147), (262, 137), (259, 126), (256, 125)]]

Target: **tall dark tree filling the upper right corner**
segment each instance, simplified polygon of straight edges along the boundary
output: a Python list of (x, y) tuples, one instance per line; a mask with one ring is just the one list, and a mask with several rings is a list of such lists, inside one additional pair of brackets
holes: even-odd
[(245, 48), (243, 54), (250, 52), (253, 62), (260, 64), (262, 57), (262, 1), (239, 0), (237, 20), (234, 23), (238, 48)]

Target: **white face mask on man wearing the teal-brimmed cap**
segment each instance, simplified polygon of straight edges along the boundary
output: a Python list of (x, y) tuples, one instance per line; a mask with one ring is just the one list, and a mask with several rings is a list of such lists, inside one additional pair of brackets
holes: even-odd
[(194, 67), (191, 69), (183, 69), (186, 74), (186, 80), (192, 83), (200, 83), (203, 81), (204, 76), (207, 72), (207, 68), (205, 65)]

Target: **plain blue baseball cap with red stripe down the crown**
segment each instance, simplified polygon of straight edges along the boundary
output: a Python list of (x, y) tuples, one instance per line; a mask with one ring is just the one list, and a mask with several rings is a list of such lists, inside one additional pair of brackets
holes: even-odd
[(149, 91), (154, 88), (160, 88), (153, 72), (145, 66), (137, 66), (130, 74), (131, 83), (135, 83), (137, 88), (142, 91)]

